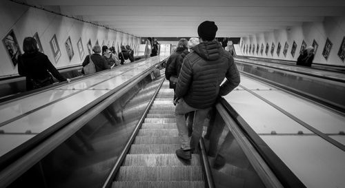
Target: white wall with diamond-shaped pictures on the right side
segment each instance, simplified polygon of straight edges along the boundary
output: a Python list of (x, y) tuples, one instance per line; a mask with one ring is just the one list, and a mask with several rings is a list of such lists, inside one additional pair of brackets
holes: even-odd
[[(319, 47), (317, 48), (317, 52), (315, 54), (314, 63), (321, 63), (326, 65), (341, 65), (345, 66), (345, 62), (342, 61), (339, 56), (337, 55), (342, 40), (345, 36), (345, 17), (325, 17), (324, 21), (322, 22), (313, 22), (313, 23), (303, 23), (300, 26), (290, 27), (286, 30), (275, 30), (274, 32), (265, 32), (265, 33), (258, 33), (255, 35), (250, 35), (241, 38), (240, 44), (243, 45), (256, 45), (259, 44), (259, 53), (255, 52), (244, 52), (242, 47), (242, 52), (244, 52), (244, 56), (257, 56), (263, 57), (268, 59), (284, 59), (288, 61), (297, 61), (299, 56), (299, 50), (301, 49), (302, 41), (306, 42), (306, 45), (312, 45), (313, 40), (318, 43)], [(328, 59), (325, 59), (322, 56), (322, 51), (324, 50), (324, 45), (326, 43), (326, 39), (330, 39), (333, 43), (331, 48), (331, 52), (328, 56)], [(286, 57), (283, 54), (285, 42), (288, 43), (288, 52), (286, 53)], [(295, 52), (295, 56), (291, 54), (291, 48), (293, 46), (293, 41), (297, 43), (297, 48)], [(264, 52), (263, 54), (260, 53), (261, 45), (264, 44)], [(268, 54), (265, 54), (266, 43), (269, 45)], [(275, 43), (275, 50), (273, 55), (270, 54), (272, 43)], [(277, 46), (278, 43), (282, 45), (279, 56), (277, 55)]]

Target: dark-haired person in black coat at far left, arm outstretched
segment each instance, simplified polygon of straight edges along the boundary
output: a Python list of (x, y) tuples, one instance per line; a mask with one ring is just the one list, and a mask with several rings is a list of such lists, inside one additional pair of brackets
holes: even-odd
[(49, 61), (48, 56), (39, 52), (37, 41), (26, 37), (23, 41), (24, 54), (18, 58), (18, 73), (26, 76), (26, 90), (34, 90), (54, 83), (52, 76), (58, 81), (68, 81)]

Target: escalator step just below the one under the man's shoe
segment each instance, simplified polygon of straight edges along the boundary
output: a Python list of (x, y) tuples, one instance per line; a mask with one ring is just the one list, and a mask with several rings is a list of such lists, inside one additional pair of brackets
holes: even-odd
[(201, 166), (120, 167), (117, 181), (198, 181), (204, 180)]

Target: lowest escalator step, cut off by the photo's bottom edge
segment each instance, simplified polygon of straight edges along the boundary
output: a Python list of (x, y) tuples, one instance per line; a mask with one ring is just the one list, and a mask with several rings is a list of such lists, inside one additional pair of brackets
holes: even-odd
[(173, 182), (113, 182), (112, 188), (201, 188), (205, 187), (203, 181), (173, 181)]

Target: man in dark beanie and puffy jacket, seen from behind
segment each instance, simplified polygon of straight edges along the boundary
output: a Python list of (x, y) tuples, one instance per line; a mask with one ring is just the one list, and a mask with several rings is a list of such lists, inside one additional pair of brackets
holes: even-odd
[[(204, 119), (216, 103), (239, 85), (239, 72), (233, 56), (215, 40), (218, 28), (213, 21), (204, 21), (197, 29), (199, 45), (186, 55), (177, 80), (176, 96), (180, 98), (175, 108), (181, 149), (176, 154), (189, 160), (201, 138)], [(221, 84), (224, 79), (226, 81)], [(195, 111), (193, 134), (188, 137), (184, 114)]]

